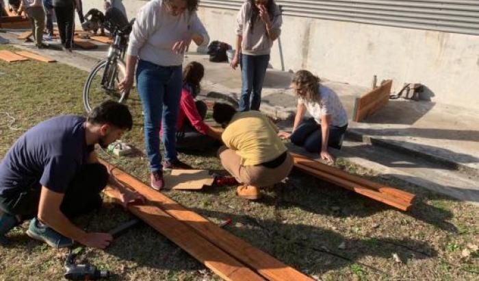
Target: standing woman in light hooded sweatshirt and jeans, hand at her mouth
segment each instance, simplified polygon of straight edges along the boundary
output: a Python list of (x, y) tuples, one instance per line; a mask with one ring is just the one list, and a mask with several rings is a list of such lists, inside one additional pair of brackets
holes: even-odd
[(281, 34), (281, 11), (274, 0), (248, 0), (237, 14), (236, 52), (231, 67), (241, 64), (239, 110), (259, 110), (261, 89), (273, 41)]

